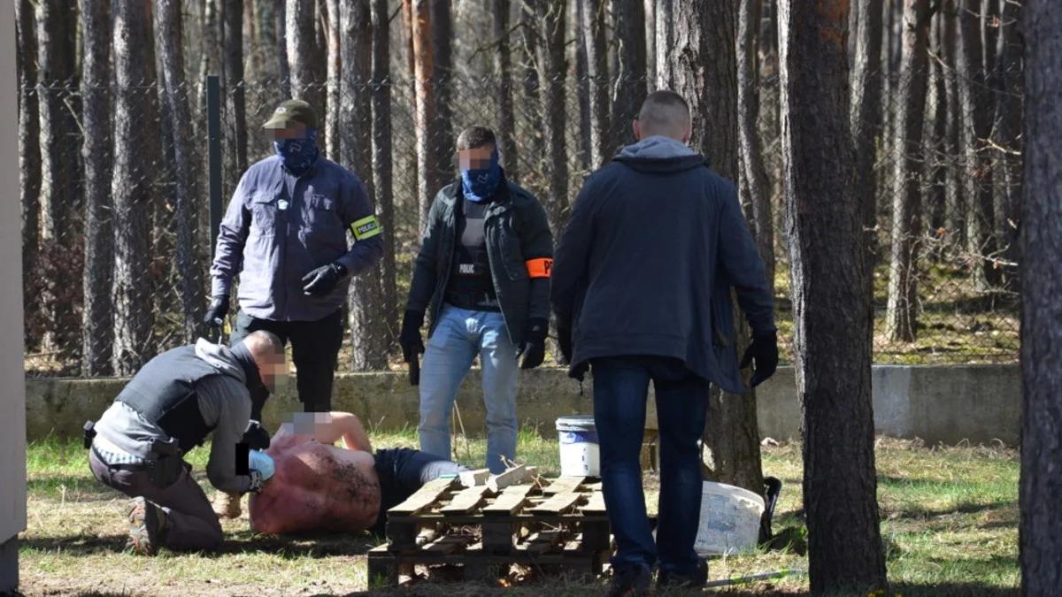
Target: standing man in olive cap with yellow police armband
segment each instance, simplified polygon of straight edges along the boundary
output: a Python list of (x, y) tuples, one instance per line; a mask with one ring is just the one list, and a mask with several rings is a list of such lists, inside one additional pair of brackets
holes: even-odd
[[(262, 129), (273, 137), (275, 155), (247, 169), (221, 222), (206, 322), (222, 324), (239, 275), (230, 341), (259, 329), (290, 340), (303, 408), (327, 412), (347, 287), (383, 254), (382, 231), (365, 185), (321, 155), (310, 104), (281, 103)], [(252, 419), (260, 415), (256, 408)], [(237, 516), (238, 496), (233, 499), (220, 510)]]

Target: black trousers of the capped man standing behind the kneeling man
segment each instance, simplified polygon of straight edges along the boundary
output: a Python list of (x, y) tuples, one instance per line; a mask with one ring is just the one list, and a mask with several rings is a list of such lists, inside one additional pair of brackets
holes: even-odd
[[(236, 345), (252, 331), (264, 329), (291, 342), (291, 356), (297, 372), (298, 399), (306, 412), (331, 410), (331, 388), (336, 361), (343, 345), (343, 310), (318, 321), (273, 321), (253, 318), (242, 310), (236, 315), (236, 329), (229, 343)], [(259, 388), (251, 396), (251, 419), (261, 421), (261, 405), (268, 391)]]

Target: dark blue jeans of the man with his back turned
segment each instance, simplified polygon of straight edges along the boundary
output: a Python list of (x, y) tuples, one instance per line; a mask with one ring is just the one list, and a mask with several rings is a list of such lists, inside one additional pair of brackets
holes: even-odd
[[(645, 564), (670, 574), (697, 569), (693, 551), (701, 514), (701, 454), (708, 382), (678, 359), (610, 357), (590, 361), (594, 422), (601, 446), (601, 480), (616, 536), (617, 570)], [(660, 421), (661, 494), (656, 542), (646, 514), (639, 454), (649, 381), (656, 390)]]

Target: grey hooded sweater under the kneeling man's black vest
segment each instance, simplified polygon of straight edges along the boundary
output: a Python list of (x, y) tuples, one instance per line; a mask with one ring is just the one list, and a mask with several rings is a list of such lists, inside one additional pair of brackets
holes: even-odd
[[(199, 385), (200, 412), (207, 426), (215, 427), (207, 478), (221, 491), (245, 492), (251, 487), (251, 477), (236, 474), (236, 443), (243, 437), (251, 417), (251, 394), (243, 370), (226, 346), (202, 338), (195, 343), (195, 355), (224, 374), (208, 377)], [(148, 460), (158, 458), (151, 450), (151, 442), (169, 438), (157, 425), (120, 402), (104, 411), (96, 431), (121, 450)]]

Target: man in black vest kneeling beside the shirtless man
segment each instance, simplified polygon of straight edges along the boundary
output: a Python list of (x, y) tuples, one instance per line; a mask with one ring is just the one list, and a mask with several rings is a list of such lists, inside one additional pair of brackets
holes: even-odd
[(237, 444), (252, 394), (259, 386), (271, 390), (286, 371), (284, 345), (268, 331), (252, 332), (232, 349), (200, 339), (148, 361), (100, 421), (86, 424), (92, 476), (134, 498), (129, 547), (150, 556), (159, 547), (221, 543), (218, 517), (183, 457), (212, 434), (210, 484), (237, 495), (260, 491), (273, 461), (259, 450), (244, 455)]

